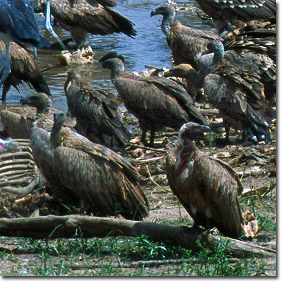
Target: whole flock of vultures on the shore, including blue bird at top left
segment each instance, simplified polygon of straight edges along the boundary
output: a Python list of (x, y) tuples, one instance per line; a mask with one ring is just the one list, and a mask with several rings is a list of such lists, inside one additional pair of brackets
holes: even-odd
[[(80, 72), (71, 70), (64, 85), (66, 115), (52, 108), (48, 81), (26, 48), (50, 46), (39, 35), (34, 13), (45, 14), (46, 28), (61, 48), (67, 43), (52, 30), (50, 17), (70, 31), (79, 47), (88, 33), (135, 37), (134, 23), (115, 12), (115, 0), (0, 0), (2, 100), (8, 100), (10, 87), (18, 88), (21, 81), (36, 90), (21, 99), (25, 106), (2, 110), (1, 123), (8, 137), (30, 139), (35, 164), (55, 197), (83, 205), (95, 216), (142, 220), (150, 202), (137, 168), (126, 158), (131, 135), (122, 119), (122, 103), (138, 120), (140, 146), (157, 148), (156, 133), (179, 132), (178, 142), (166, 154), (166, 176), (194, 227), (216, 227), (222, 235), (239, 238), (244, 219), (237, 197), (243, 186), (231, 166), (195, 145), (214, 130), (198, 105), (205, 101), (219, 111), (224, 144), (231, 143), (231, 128), (238, 130), (240, 144), (271, 142), (271, 121), (276, 117), (276, 3), (195, 1), (206, 14), (202, 17), (215, 25), (210, 32), (177, 21), (174, 1), (160, 3), (148, 14), (162, 17), (160, 32), (172, 52), (172, 69), (162, 76), (158, 70), (135, 75), (125, 71), (123, 55), (106, 52), (99, 62), (109, 70), (117, 95), (82, 86)], [(1, 152), (9, 150), (17, 150), (17, 145), (3, 139)]]

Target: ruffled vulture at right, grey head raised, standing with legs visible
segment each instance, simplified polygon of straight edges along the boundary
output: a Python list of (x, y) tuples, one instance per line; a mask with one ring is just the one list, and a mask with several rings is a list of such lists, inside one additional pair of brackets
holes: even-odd
[(213, 41), (208, 50), (214, 52), (215, 70), (204, 79), (204, 94), (224, 119), (226, 142), (231, 126), (243, 130), (243, 142), (270, 142), (269, 124), (276, 113), (267, 104), (260, 76), (224, 59), (222, 42)]

